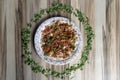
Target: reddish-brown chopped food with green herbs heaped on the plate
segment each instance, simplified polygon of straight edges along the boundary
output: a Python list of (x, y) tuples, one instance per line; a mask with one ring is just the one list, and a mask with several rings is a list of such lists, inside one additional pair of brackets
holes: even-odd
[(68, 59), (76, 51), (77, 40), (78, 35), (72, 24), (57, 20), (42, 31), (44, 55), (58, 60)]

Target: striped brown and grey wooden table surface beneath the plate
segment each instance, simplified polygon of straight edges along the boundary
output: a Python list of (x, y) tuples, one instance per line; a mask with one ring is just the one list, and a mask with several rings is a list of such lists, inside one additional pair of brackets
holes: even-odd
[[(96, 35), (89, 63), (86, 63), (84, 70), (78, 70), (63, 80), (120, 80), (120, 0), (0, 0), (0, 80), (60, 80), (33, 73), (21, 58), (21, 29), (26, 27), (35, 13), (49, 8), (54, 1), (84, 12), (90, 18)], [(79, 24), (85, 39), (83, 27), (76, 17), (65, 13), (59, 15)], [(46, 18), (52, 16), (56, 15)], [(33, 25), (32, 34), (36, 27)], [(44, 68), (64, 71), (77, 62), (53, 66), (36, 55), (32, 43), (30, 47), (33, 58)]]

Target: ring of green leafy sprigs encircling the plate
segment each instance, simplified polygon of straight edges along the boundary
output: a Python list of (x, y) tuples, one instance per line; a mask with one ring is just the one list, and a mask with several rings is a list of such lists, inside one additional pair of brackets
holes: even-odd
[[(44, 69), (42, 66), (38, 65), (38, 63), (32, 58), (32, 51), (29, 49), (29, 43), (30, 43), (30, 31), (32, 23), (37, 23), (40, 18), (42, 18), (45, 14), (53, 14), (58, 11), (63, 11), (68, 14), (73, 14), (78, 18), (78, 20), (82, 23), (85, 34), (87, 36), (87, 44), (85, 45), (81, 58), (78, 62), (78, 64), (74, 66), (70, 66), (70, 68), (65, 69), (63, 72), (57, 72), (55, 70), (46, 68)], [(71, 72), (76, 71), (77, 69), (83, 69), (83, 66), (85, 65), (86, 61), (88, 60), (89, 52), (92, 50), (92, 42), (94, 38), (94, 32), (93, 29), (89, 23), (88, 17), (86, 17), (80, 10), (73, 9), (71, 6), (67, 6), (65, 4), (56, 4), (52, 6), (49, 9), (42, 9), (38, 14), (34, 15), (34, 19), (31, 20), (30, 23), (27, 24), (27, 27), (24, 28), (21, 32), (22, 34), (22, 48), (24, 50), (24, 54), (22, 57), (24, 58), (25, 64), (29, 65), (33, 72), (38, 73), (41, 72), (45, 76), (53, 76), (57, 78), (64, 78), (67, 75), (70, 75)]]

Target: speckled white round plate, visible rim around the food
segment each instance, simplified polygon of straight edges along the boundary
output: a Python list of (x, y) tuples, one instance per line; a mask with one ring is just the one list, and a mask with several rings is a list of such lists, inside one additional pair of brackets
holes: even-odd
[[(78, 46), (76, 48), (75, 53), (70, 58), (68, 58), (66, 60), (61, 60), (61, 61), (60, 60), (53, 60), (53, 59), (50, 59), (50, 58), (44, 56), (44, 52), (43, 52), (42, 47), (41, 47), (42, 46), (42, 31), (45, 29), (45, 27), (47, 25), (52, 25), (57, 20), (72, 24), (73, 28), (76, 30), (77, 35), (78, 35)], [(69, 20), (68, 18), (52, 17), (52, 18), (45, 20), (42, 24), (40, 24), (40, 26), (36, 30), (36, 33), (34, 36), (34, 46), (35, 46), (37, 54), (45, 62), (47, 62), (49, 64), (53, 64), (53, 65), (65, 65), (65, 64), (71, 63), (73, 60), (75, 60), (79, 56), (81, 49), (82, 49), (82, 46), (83, 46), (82, 34), (80, 32), (79, 27), (73, 21)]]

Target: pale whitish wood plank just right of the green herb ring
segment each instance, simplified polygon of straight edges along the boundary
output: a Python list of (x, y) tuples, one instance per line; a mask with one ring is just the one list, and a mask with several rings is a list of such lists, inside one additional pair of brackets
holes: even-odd
[(105, 0), (95, 0), (95, 80), (103, 80), (103, 34), (102, 27), (105, 26)]

